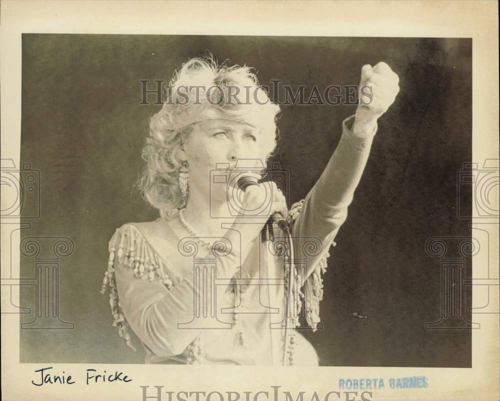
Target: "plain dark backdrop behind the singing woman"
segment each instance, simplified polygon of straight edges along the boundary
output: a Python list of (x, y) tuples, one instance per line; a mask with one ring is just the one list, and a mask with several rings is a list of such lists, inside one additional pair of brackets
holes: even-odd
[[(143, 362), (142, 349), (134, 353), (118, 337), (107, 293), (99, 293), (115, 228), (157, 217), (131, 192), (148, 119), (160, 108), (154, 96), (139, 105), (139, 80), (167, 83), (205, 50), (228, 65), (254, 67), (262, 85), (280, 79), (306, 85), (306, 93), (313, 85), (357, 85), (367, 63), (384, 61), (399, 75), (400, 93), (379, 120), (330, 251), (323, 329), (303, 332), (322, 365), (470, 367), (470, 330), (424, 324), (441, 315), (440, 264), (425, 252), (426, 240), (470, 236), (455, 194), (456, 172), (471, 161), (472, 41), (418, 38), (24, 34), (21, 163), (40, 171), (40, 217), (21, 239), (73, 241), (59, 263), (58, 315), (74, 329), (21, 329), (20, 361)], [(289, 172), (291, 204), (320, 175), (355, 106), (281, 109), (272, 160)], [(470, 197), (458, 202), (470, 210)], [(21, 255), (21, 277), (32, 277), (34, 266)], [(34, 305), (33, 287), (22, 287), (21, 306)], [(21, 322), (33, 318), (21, 315)]]

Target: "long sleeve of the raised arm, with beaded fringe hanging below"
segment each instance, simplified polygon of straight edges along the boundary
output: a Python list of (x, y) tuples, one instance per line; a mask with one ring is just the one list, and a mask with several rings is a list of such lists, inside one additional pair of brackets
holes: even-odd
[[(361, 179), (377, 127), (367, 137), (357, 137), (351, 130), (354, 116), (342, 122), (342, 136), (323, 173), (298, 205), (292, 225), (295, 257), (306, 260), (299, 271), (300, 286), (309, 302), (308, 322), (315, 328), (319, 322), (318, 303), (322, 298), (321, 273), (326, 257), (340, 226), (347, 218), (347, 208)], [(293, 213), (292, 213), (293, 215)], [(307, 280), (307, 281), (306, 281)]]

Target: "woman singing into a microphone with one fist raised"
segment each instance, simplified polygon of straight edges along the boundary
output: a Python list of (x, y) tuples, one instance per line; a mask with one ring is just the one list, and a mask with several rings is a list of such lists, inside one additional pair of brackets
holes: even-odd
[[(240, 178), (248, 174), (234, 174), (255, 176), (276, 145), (279, 106), (255, 75), (211, 58), (191, 59), (174, 75), (150, 121), (139, 181), (160, 217), (116, 229), (101, 290), (110, 286), (113, 325), (133, 349), (129, 329), (137, 334), (146, 363), (318, 365), (294, 330), (301, 302), (315, 330), (328, 248), (376, 121), (399, 90), (385, 63), (364, 66), (361, 85), (371, 96), (344, 120), (326, 169), (288, 212), (276, 184), (253, 179), (244, 189)], [(269, 216), (286, 219), (271, 239), (261, 234)], [(292, 247), (284, 241), (289, 232)]]

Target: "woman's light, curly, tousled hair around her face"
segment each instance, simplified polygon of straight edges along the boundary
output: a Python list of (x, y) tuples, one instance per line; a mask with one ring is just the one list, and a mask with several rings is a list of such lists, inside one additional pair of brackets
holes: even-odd
[(211, 54), (182, 64), (167, 87), (167, 102), (150, 119), (141, 155), (146, 167), (135, 186), (163, 218), (175, 216), (185, 205), (179, 189), (179, 151), (194, 123), (221, 112), (260, 128), (265, 162), (276, 147), (279, 106), (270, 102), (252, 68), (224, 64), (218, 65)]

